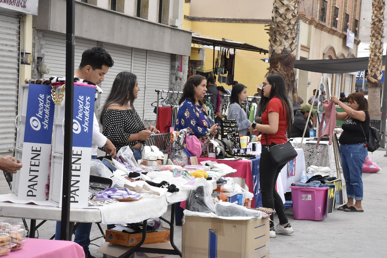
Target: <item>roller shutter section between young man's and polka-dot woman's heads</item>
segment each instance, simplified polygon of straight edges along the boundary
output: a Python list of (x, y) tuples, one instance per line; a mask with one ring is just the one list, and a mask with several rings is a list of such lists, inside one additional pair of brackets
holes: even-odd
[[(130, 72), (132, 69), (132, 48), (107, 43), (103, 44), (103, 48), (108, 51), (111, 58), (113, 58), (114, 65), (109, 69), (109, 72), (105, 75), (105, 80), (102, 83), (103, 93), (101, 96), (101, 108), (105, 104), (106, 98), (108, 98), (111, 85), (113, 85), (116, 75), (122, 71)], [(137, 112), (139, 112), (139, 110), (137, 110)]]

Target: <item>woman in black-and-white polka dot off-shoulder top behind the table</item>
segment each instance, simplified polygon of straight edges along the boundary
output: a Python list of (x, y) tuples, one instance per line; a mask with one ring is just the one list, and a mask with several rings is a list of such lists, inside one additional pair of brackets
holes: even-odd
[(134, 109), (133, 102), (139, 90), (136, 75), (130, 72), (118, 73), (100, 117), (102, 134), (110, 139), (117, 151), (123, 146), (129, 146), (136, 161), (141, 158), (142, 145), (152, 132), (159, 132), (154, 126), (145, 128)]

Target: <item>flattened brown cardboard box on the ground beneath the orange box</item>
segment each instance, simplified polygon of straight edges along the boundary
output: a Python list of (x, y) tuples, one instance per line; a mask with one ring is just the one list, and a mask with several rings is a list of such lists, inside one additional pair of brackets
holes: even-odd
[[(166, 243), (154, 243), (154, 244), (143, 244), (141, 247), (145, 248), (162, 248), (173, 250), (173, 247), (169, 242)], [(105, 242), (97, 251), (97, 253), (103, 253), (106, 255), (111, 255), (113, 257), (123, 257), (125, 254), (132, 249), (131, 246), (122, 246), (119, 244), (112, 244)], [(148, 258), (163, 257), (162, 254), (156, 253), (144, 253)], [(130, 256), (132, 258), (133, 256)]]

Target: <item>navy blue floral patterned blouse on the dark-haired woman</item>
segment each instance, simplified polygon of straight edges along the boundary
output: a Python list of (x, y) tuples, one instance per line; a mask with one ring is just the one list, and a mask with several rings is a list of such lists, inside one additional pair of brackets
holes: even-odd
[(202, 106), (192, 103), (186, 98), (180, 104), (177, 113), (175, 130), (187, 128), (187, 132), (196, 136), (202, 144), (202, 156), (207, 156), (207, 143), (210, 141), (211, 119)]

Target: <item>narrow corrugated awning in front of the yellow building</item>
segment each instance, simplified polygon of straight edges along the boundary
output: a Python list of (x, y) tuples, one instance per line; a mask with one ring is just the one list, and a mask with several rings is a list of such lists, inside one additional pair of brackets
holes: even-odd
[(200, 37), (196, 35), (195, 36), (192, 35), (192, 43), (205, 45), (205, 46), (220, 46), (224, 48), (242, 49), (242, 50), (255, 51), (255, 52), (264, 53), (264, 54), (269, 53), (269, 50), (267, 49), (259, 48), (257, 46), (254, 46), (248, 43), (221, 40), (221, 39), (210, 39), (207, 37)]

